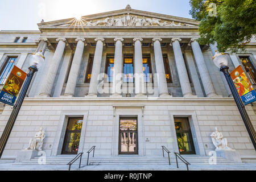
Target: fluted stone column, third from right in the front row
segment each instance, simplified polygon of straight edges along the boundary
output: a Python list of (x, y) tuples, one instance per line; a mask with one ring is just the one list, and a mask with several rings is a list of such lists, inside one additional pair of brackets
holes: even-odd
[(160, 38), (152, 39), (154, 44), (154, 53), (155, 53), (155, 65), (156, 65), (156, 73), (158, 75), (158, 89), (159, 89), (159, 96), (169, 96), (167, 82), (166, 82), (166, 71), (164, 70), (164, 63), (163, 63), (163, 54), (161, 49)]

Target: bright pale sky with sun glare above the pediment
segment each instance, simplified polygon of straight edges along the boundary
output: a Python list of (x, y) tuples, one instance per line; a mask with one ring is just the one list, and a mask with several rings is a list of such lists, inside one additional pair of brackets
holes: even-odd
[(38, 30), (37, 23), (125, 9), (191, 18), (189, 0), (0, 0), (0, 30)]

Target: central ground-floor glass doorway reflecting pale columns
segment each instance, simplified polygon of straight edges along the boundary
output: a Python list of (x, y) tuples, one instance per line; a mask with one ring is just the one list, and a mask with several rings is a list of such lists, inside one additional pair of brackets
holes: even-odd
[(120, 118), (119, 154), (138, 154), (137, 118)]

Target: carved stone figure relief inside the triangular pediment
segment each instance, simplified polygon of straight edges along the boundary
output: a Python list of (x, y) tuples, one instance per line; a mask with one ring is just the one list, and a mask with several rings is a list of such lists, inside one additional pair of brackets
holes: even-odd
[(188, 23), (180, 23), (174, 21), (166, 21), (159, 18), (146, 18), (144, 16), (137, 15), (127, 15), (123, 14), (122, 16), (117, 17), (107, 17), (102, 20), (88, 20), (83, 22), (86, 27), (94, 26), (106, 26), (106, 27), (141, 27), (141, 26), (168, 26), (168, 27), (189, 27), (195, 26)]

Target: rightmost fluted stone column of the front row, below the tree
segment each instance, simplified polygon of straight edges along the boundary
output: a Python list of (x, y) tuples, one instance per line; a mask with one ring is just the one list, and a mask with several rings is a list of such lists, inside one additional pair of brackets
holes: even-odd
[(195, 39), (191, 39), (191, 47), (193, 50), (193, 54), (195, 56), (197, 68), (199, 70), (199, 74), (201, 77), (201, 81), (203, 82), (204, 91), (207, 97), (217, 96), (217, 93), (214, 89), (212, 78), (210, 78), (210, 73), (207, 69), (207, 65), (204, 62), (204, 56), (199, 46), (199, 43)]

